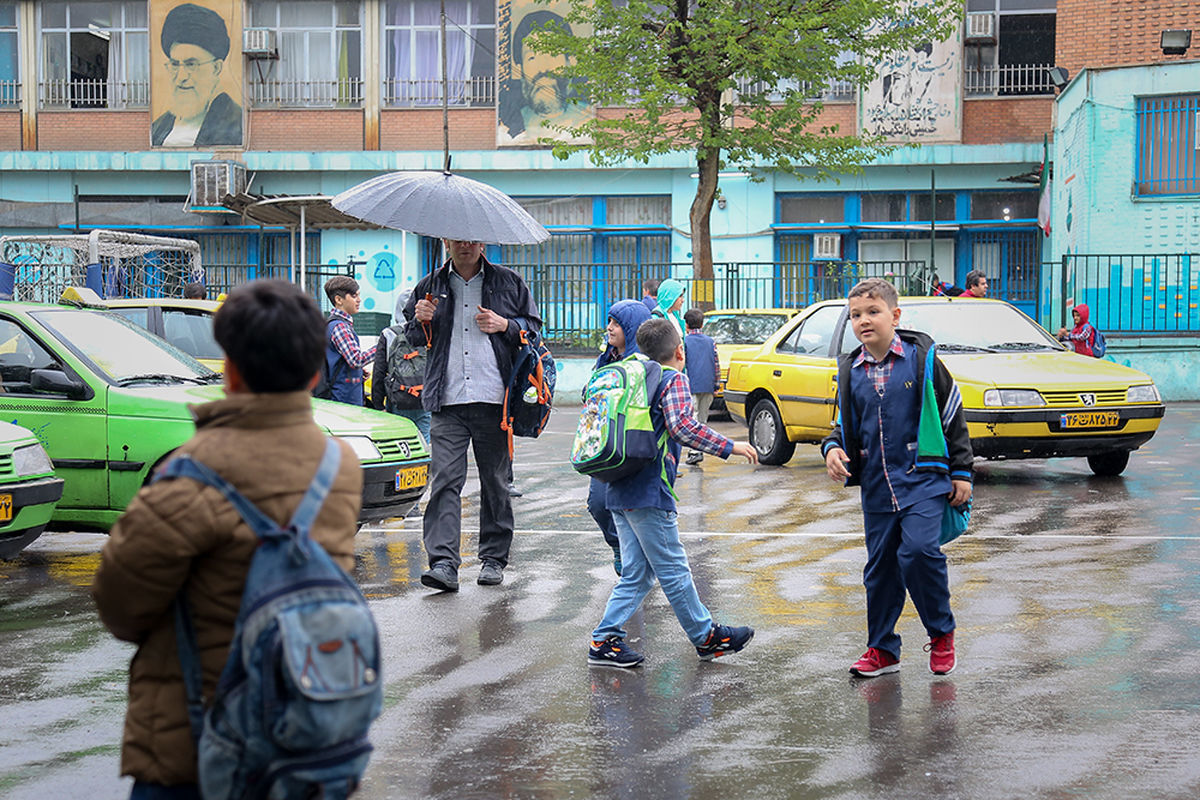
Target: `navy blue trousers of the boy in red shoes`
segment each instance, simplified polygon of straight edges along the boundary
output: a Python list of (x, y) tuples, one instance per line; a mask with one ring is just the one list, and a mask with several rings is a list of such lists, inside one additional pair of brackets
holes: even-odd
[(864, 511), (866, 529), (866, 642), (900, 657), (896, 620), (905, 590), (932, 638), (954, 630), (946, 555), (937, 545), (944, 495), (919, 500), (895, 512)]

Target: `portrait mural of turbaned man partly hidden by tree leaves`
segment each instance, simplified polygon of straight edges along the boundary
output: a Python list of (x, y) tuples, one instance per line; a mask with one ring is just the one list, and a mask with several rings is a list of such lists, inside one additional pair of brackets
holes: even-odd
[(566, 66), (566, 56), (526, 46), (530, 34), (550, 24), (576, 36), (587, 34), (571, 30), (564, 14), (565, 4), (547, 8), (533, 0), (502, 0), (497, 16), (497, 145), (532, 145), (541, 138), (582, 140), (570, 131), (556, 130), (574, 127), (594, 114), (566, 78), (552, 74)]

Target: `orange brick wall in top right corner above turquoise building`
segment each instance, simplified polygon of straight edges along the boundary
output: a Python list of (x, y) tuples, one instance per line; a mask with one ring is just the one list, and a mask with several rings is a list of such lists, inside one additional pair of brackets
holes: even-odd
[[(1200, 0), (1058, 0), (1055, 64), (1081, 67), (1200, 58)], [(1164, 30), (1190, 29), (1187, 55), (1163, 55)]]

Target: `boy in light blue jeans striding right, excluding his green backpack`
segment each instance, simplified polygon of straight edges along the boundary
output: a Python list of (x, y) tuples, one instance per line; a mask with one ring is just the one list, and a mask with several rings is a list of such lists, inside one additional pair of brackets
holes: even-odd
[(607, 509), (620, 540), (620, 581), (608, 596), (604, 619), (592, 632), (588, 663), (636, 667), (644, 656), (625, 643), (625, 624), (641, 607), (658, 581), (671, 609), (702, 661), (738, 652), (754, 637), (751, 627), (716, 625), (700, 600), (679, 541), (674, 480), (682, 444), (728, 458), (736, 453), (751, 463), (755, 449), (731, 441), (696, 421), (684, 366), (683, 339), (667, 319), (652, 319), (637, 329), (637, 347), (662, 365), (662, 377), (650, 403), (650, 417), (660, 439), (658, 457), (641, 471), (607, 486)]

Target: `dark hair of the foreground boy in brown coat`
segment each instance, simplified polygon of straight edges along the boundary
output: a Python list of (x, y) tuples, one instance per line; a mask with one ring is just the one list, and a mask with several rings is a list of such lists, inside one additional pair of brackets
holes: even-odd
[(251, 281), (230, 291), (212, 336), (254, 392), (307, 389), (325, 357), (325, 319), (287, 281)]

